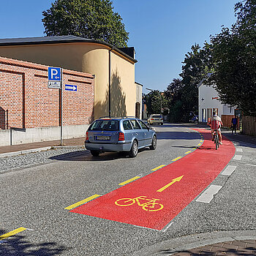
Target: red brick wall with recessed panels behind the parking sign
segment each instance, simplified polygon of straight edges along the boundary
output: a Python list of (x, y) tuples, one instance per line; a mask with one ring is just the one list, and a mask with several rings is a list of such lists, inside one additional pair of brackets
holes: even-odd
[[(63, 69), (63, 125), (89, 124), (94, 118), (94, 78)], [(0, 57), (0, 129), (60, 125), (59, 89), (48, 89), (48, 67)]]

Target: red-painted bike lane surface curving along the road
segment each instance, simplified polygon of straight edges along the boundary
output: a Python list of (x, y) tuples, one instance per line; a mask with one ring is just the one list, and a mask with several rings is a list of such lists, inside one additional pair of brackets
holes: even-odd
[[(223, 145), (216, 150), (213, 141), (211, 141), (210, 131), (206, 129), (195, 130), (203, 135), (204, 141), (203, 145), (192, 153), (71, 211), (162, 230), (203, 189), (214, 181), (227, 163), (230, 162), (236, 151), (233, 143), (227, 138), (222, 139)], [(161, 164), (159, 163), (159, 165)], [(180, 176), (183, 176), (181, 181), (176, 181), (162, 192), (157, 192), (165, 185), (170, 184), (174, 178)], [(130, 206), (118, 206), (115, 203), (116, 200), (121, 198), (139, 196), (145, 196), (148, 199), (159, 199), (157, 203), (162, 204), (163, 208), (158, 211), (146, 211), (135, 200), (127, 202), (127, 204), (135, 202)], [(124, 201), (126, 200), (123, 200), (122, 203), (119, 201), (119, 204), (125, 204)], [(140, 200), (140, 204), (146, 202), (149, 201)], [(160, 208), (159, 204), (155, 205), (154, 208), (145, 208), (148, 210), (157, 209)]]

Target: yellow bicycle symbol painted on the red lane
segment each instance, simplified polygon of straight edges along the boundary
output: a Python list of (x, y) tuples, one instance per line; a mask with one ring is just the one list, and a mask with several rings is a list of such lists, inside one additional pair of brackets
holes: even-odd
[[(146, 202), (142, 203), (143, 200)], [(121, 198), (116, 200), (116, 206), (132, 206), (134, 203), (138, 203), (145, 211), (160, 211), (164, 206), (161, 203), (157, 203), (159, 199), (152, 198), (148, 199), (145, 195), (140, 195), (135, 198)]]

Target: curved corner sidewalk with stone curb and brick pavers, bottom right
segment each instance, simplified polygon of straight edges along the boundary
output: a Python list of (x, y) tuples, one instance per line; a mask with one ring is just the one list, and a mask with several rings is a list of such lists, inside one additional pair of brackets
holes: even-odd
[(256, 255), (255, 230), (197, 233), (162, 241), (133, 252), (130, 256)]

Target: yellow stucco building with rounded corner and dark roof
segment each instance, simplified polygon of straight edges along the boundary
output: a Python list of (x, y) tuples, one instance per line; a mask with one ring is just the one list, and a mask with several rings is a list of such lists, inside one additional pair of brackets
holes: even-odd
[(0, 56), (94, 74), (94, 118), (135, 116), (141, 104), (134, 48), (75, 36), (27, 37), (0, 39)]

